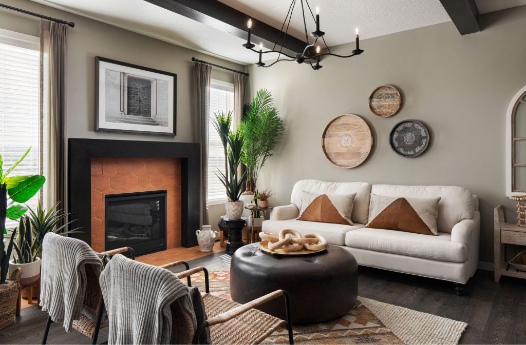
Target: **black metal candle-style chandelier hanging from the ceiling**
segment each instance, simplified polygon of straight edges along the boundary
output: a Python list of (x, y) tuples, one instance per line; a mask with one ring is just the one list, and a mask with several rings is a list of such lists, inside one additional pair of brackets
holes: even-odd
[[(304, 1), (305, 1), (305, 5), (306, 5), (306, 7), (308, 9), (308, 13), (310, 13), (312, 19), (314, 20), (314, 22), (316, 24), (316, 31), (310, 33), (310, 36), (312, 36), (313, 39), (314, 39), (312, 43), (310, 43), (310, 38), (309, 38), (309, 35), (307, 34), (307, 20), (305, 19), (306, 8), (305, 8), (305, 5), (304, 5)], [(243, 47), (245, 47), (247, 49), (250, 49), (250, 50), (254, 51), (255, 53), (259, 54), (259, 61), (256, 63), (256, 66), (258, 66), (258, 67), (270, 67), (272, 65), (277, 64), (279, 61), (296, 61), (298, 64), (308, 63), (308, 64), (310, 64), (310, 67), (312, 67), (312, 69), (318, 70), (321, 67), (323, 67), (323, 66), (320, 65), (320, 57), (322, 57), (322, 56), (328, 55), (328, 56), (337, 56), (337, 57), (340, 57), (340, 58), (348, 58), (348, 57), (355, 56), (355, 55), (360, 55), (361, 53), (363, 53), (363, 50), (360, 49), (360, 41), (359, 41), (359, 37), (358, 37), (358, 28), (356, 28), (356, 49), (352, 50), (350, 55), (338, 55), (338, 54), (331, 53), (330, 48), (327, 46), (327, 43), (325, 43), (325, 38), (323, 38), (323, 35), (325, 35), (325, 33), (320, 30), (320, 9), (319, 9), (319, 7), (316, 7), (316, 15), (315, 15), (315, 14), (312, 13), (312, 9), (310, 8), (309, 2), (307, 0), (299, 0), (299, 2), (301, 3), (301, 14), (303, 16), (303, 24), (304, 24), (304, 28), (305, 28), (305, 40), (307, 41), (307, 45), (305, 46), (305, 49), (303, 50), (302, 53), (298, 53), (295, 56), (291, 56), (289, 54), (284, 53), (282, 51), (282, 49), (283, 49), (283, 44), (285, 42), (285, 38), (287, 37), (287, 32), (288, 32), (288, 29), (289, 29), (290, 20), (292, 18), (292, 12), (294, 12), (294, 8), (296, 6), (296, 0), (292, 0), (292, 2), (290, 3), (289, 11), (287, 12), (287, 16), (285, 17), (285, 20), (283, 21), (283, 24), (281, 25), (281, 29), (280, 29), (279, 34), (278, 34), (278, 38), (276, 39), (276, 42), (274, 43), (274, 47), (272, 47), (271, 50), (263, 51), (263, 43), (259, 44), (259, 51), (254, 49), (255, 45), (252, 44), (251, 41), (250, 41), (250, 30), (252, 28), (252, 19), (248, 19), (248, 23), (247, 23), (247, 26), (248, 26), (247, 43), (245, 43), (243, 45)], [(307, 17), (308, 17), (308, 14), (307, 14)], [(287, 24), (287, 25), (285, 26), (285, 24)], [(285, 31), (284, 31), (284, 29), (285, 29)], [(281, 35), (283, 35), (282, 38), (281, 38)], [(325, 46), (325, 49), (327, 50), (324, 53), (320, 53), (321, 52), (321, 47), (318, 44), (318, 40), (320, 38), (323, 41), (323, 45)], [(278, 44), (280, 39), (281, 39), (281, 44)], [(276, 46), (280, 47), (279, 50), (276, 50)], [(316, 48), (312, 49), (312, 47), (314, 47), (314, 46), (316, 46)], [(265, 64), (265, 62), (261, 62), (261, 57), (262, 57), (263, 54), (269, 54), (269, 53), (277, 53), (278, 57), (277, 57), (276, 61), (274, 61), (271, 64), (267, 65), (267, 64)], [(316, 61), (316, 63), (313, 64), (313, 61)]]

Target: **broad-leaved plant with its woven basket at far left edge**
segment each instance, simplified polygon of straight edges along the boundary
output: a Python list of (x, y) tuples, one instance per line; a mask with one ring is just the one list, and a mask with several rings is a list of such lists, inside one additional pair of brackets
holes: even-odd
[(29, 153), (29, 148), (22, 158), (16, 161), (7, 171), (3, 169), (3, 160), (0, 155), (0, 329), (5, 328), (15, 318), (16, 302), (18, 298), (18, 279), (21, 269), (16, 269), (11, 276), (14, 280), (7, 279), (9, 258), (14, 246), (16, 229), (6, 243), (4, 241), (6, 218), (16, 221), (27, 211), (27, 208), (19, 203), (25, 203), (31, 199), (46, 181), (42, 175), (32, 176), (9, 176), (9, 173), (22, 162)]

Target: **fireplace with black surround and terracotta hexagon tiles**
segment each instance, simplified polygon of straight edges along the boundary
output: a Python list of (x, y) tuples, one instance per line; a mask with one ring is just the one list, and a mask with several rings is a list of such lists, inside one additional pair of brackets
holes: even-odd
[[(166, 212), (159, 216), (159, 224), (165, 219), (165, 248), (196, 246), (199, 166), (197, 143), (68, 139), (68, 211), (70, 219), (75, 219), (69, 228), (81, 228), (72, 237), (87, 242), (96, 252), (113, 245), (124, 246), (122, 242), (110, 244), (114, 241), (108, 241), (106, 236), (107, 203), (112, 206), (123, 194), (137, 196), (166, 190)], [(161, 201), (159, 208), (160, 204)], [(120, 235), (129, 235), (120, 231)], [(134, 231), (140, 232), (138, 228)], [(131, 235), (129, 238), (134, 240)], [(144, 250), (162, 250), (153, 248), (157, 245), (158, 242)]]

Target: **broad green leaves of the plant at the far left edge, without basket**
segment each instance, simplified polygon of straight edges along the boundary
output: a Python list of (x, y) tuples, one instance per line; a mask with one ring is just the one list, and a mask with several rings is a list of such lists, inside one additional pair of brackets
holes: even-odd
[(42, 175), (9, 176), (9, 173), (24, 160), (31, 148), (16, 161), (6, 172), (3, 170), (3, 159), (0, 155), (0, 284), (6, 283), (9, 257), (13, 250), (16, 229), (13, 231), (7, 246), (4, 243), (6, 218), (16, 221), (24, 215), (27, 208), (18, 203), (25, 203), (31, 199), (46, 182)]

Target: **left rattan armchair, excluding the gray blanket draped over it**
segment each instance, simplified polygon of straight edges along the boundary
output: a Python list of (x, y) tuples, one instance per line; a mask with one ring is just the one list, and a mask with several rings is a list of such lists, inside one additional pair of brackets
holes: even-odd
[[(113, 250), (108, 250), (107, 252), (98, 253), (98, 256), (102, 260), (103, 264), (107, 264), (108, 261), (115, 254), (119, 253), (129, 253), (131, 259), (135, 260), (135, 252), (131, 247), (117, 248)], [(188, 264), (186, 262), (181, 262), (186, 268)], [(108, 326), (108, 322), (102, 323), (104, 316), (104, 299), (99, 285), (99, 274), (97, 269), (93, 265), (86, 266), (86, 292), (83, 300), (83, 312), (80, 313), (78, 320), (73, 321), (72, 327), (84, 334), (89, 339), (92, 339), (92, 343), (97, 343), (98, 333), (100, 328)], [(89, 317), (91, 315), (92, 317)], [(96, 316), (95, 321), (93, 316)], [(49, 326), (53, 323), (51, 317), (48, 316), (46, 329), (44, 331), (44, 337), (42, 338), (42, 343), (47, 342), (47, 336), (49, 334)]]

